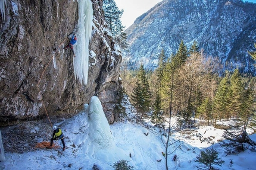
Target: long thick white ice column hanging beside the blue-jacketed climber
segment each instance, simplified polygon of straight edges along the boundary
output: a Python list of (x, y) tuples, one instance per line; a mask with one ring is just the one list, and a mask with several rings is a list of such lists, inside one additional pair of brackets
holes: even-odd
[(89, 69), (89, 41), (92, 39), (92, 2), (79, 0), (79, 20), (77, 24), (77, 43), (74, 46), (76, 57), (74, 60), (74, 72), (80, 83), (87, 85)]

